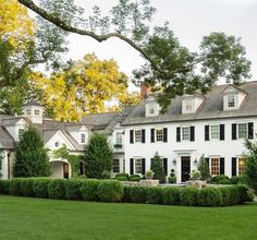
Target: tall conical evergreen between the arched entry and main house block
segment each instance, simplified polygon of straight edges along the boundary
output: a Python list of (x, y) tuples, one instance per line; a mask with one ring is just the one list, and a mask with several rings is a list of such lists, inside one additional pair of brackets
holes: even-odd
[(88, 178), (110, 178), (112, 148), (105, 133), (96, 132), (89, 139), (86, 147), (85, 168)]

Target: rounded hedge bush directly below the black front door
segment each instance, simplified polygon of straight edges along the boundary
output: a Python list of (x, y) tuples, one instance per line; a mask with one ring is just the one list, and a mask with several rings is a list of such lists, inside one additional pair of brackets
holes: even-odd
[(194, 187), (185, 187), (180, 193), (180, 204), (183, 206), (197, 206), (198, 205), (199, 190)]

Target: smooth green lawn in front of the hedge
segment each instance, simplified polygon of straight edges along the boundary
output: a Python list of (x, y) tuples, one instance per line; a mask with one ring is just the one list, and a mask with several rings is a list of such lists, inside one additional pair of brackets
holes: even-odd
[(257, 239), (257, 203), (204, 208), (0, 195), (0, 239)]

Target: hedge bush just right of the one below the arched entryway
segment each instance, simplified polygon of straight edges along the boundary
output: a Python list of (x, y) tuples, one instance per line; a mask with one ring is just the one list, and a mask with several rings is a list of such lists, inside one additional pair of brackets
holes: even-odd
[(82, 200), (81, 188), (84, 180), (79, 178), (71, 178), (66, 180), (66, 199), (68, 200)]

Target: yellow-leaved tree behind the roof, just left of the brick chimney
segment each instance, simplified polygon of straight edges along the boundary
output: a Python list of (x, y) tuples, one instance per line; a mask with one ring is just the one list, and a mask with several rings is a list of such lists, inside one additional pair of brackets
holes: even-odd
[(70, 62), (50, 77), (34, 74), (33, 84), (42, 91), (42, 103), (49, 116), (57, 120), (77, 121), (86, 113), (105, 112), (105, 103), (126, 94), (127, 77), (114, 60), (99, 60), (86, 55)]

